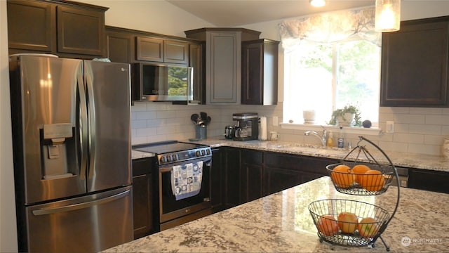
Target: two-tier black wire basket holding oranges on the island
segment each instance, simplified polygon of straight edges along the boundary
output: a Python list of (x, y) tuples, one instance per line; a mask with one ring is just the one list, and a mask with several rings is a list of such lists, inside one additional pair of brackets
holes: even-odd
[[(326, 167), (335, 190), (349, 195), (380, 195), (387, 191), (395, 176), (397, 186), (400, 186), (396, 167), (384, 151), (363, 136), (359, 138), (356, 147), (340, 163)], [(380, 150), (385, 159), (376, 159), (361, 145), (362, 141)], [(374, 247), (376, 240), (380, 238), (389, 251), (381, 235), (398, 209), (400, 190), (399, 187), (396, 188), (396, 206), (391, 215), (382, 207), (358, 200), (311, 202), (309, 212), (318, 230), (320, 242), (345, 247)]]

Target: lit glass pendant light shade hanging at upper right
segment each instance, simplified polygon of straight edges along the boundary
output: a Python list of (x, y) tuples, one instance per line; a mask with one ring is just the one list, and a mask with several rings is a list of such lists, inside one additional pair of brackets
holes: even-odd
[(376, 0), (375, 30), (398, 31), (401, 26), (401, 0)]

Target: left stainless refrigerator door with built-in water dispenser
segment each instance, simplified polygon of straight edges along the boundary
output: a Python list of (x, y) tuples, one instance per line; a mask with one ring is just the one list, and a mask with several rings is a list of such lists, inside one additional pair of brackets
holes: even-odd
[(76, 120), (82, 61), (19, 56), (11, 58), (10, 67), (20, 202), (31, 205), (86, 193), (86, 174), (81, 168), (83, 134)]

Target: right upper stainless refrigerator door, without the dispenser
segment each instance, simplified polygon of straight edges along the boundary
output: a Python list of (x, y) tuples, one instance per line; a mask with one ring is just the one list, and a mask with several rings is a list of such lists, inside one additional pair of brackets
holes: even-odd
[(130, 65), (85, 60), (88, 192), (131, 183)]

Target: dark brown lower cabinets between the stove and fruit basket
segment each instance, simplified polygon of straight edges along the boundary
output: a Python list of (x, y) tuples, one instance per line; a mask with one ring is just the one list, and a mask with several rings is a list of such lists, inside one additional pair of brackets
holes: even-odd
[(328, 164), (338, 162), (323, 157), (229, 147), (214, 149), (212, 161), (213, 212), (318, 179), (328, 175)]

